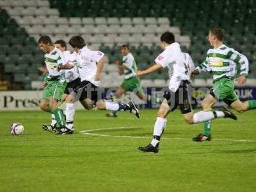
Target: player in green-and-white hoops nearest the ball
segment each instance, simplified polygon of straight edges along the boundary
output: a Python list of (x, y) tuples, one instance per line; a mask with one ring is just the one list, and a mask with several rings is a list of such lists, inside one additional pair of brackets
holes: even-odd
[(45, 52), (45, 64), (47, 67), (47, 75), (44, 79), (44, 93), (40, 102), (40, 108), (43, 111), (52, 113), (60, 128), (66, 125), (63, 110), (58, 108), (58, 102), (66, 88), (65, 71), (58, 71), (58, 67), (64, 64), (63, 54), (60, 49), (54, 47), (49, 36), (41, 36), (38, 40), (41, 51)]

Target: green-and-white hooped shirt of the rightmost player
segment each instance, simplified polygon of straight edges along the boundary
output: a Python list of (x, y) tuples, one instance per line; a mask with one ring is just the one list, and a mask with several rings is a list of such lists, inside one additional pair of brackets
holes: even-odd
[[(241, 65), (239, 70), (238, 64)], [(196, 70), (211, 72), (215, 83), (223, 77), (234, 79), (237, 75), (247, 76), (249, 62), (246, 56), (223, 44), (216, 49), (209, 49), (206, 60)]]

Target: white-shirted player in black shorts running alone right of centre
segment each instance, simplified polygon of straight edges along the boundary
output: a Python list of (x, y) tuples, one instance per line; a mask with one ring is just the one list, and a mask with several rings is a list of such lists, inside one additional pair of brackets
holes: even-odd
[(160, 40), (161, 47), (163, 47), (164, 51), (157, 56), (155, 60), (156, 64), (147, 70), (138, 70), (137, 72), (137, 76), (143, 76), (160, 68), (167, 67), (170, 78), (168, 90), (164, 92), (164, 100), (157, 112), (153, 139), (147, 146), (138, 148), (143, 152), (158, 152), (159, 141), (167, 123), (166, 117), (170, 111), (175, 110), (178, 106), (188, 124), (205, 122), (218, 117), (228, 117), (237, 120), (237, 117), (227, 109), (193, 113), (192, 86), (189, 80), (195, 68), (194, 63), (188, 53), (180, 50), (180, 45), (175, 42), (173, 33), (168, 31), (163, 33)]

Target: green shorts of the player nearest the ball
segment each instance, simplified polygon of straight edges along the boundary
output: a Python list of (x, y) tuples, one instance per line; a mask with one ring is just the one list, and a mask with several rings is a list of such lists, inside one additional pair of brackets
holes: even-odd
[(66, 82), (60, 83), (59, 81), (47, 81), (47, 85), (44, 89), (42, 99), (54, 98), (60, 101), (66, 86), (67, 86)]

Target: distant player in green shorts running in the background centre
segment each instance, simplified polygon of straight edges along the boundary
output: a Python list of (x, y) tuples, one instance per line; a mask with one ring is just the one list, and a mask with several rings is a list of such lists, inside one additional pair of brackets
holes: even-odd
[[(153, 101), (161, 104), (161, 100), (153, 97), (152, 95), (146, 95), (143, 92), (141, 87), (140, 78), (136, 77), (136, 72), (138, 70), (136, 61), (129, 51), (129, 47), (127, 45), (121, 46), (121, 53), (123, 55), (122, 63), (120, 61), (116, 62), (119, 70), (124, 72), (124, 82), (116, 91), (115, 95), (111, 99), (120, 99), (125, 92), (134, 92), (141, 100)], [(112, 111), (108, 113), (107, 116), (117, 116), (117, 111)]]

